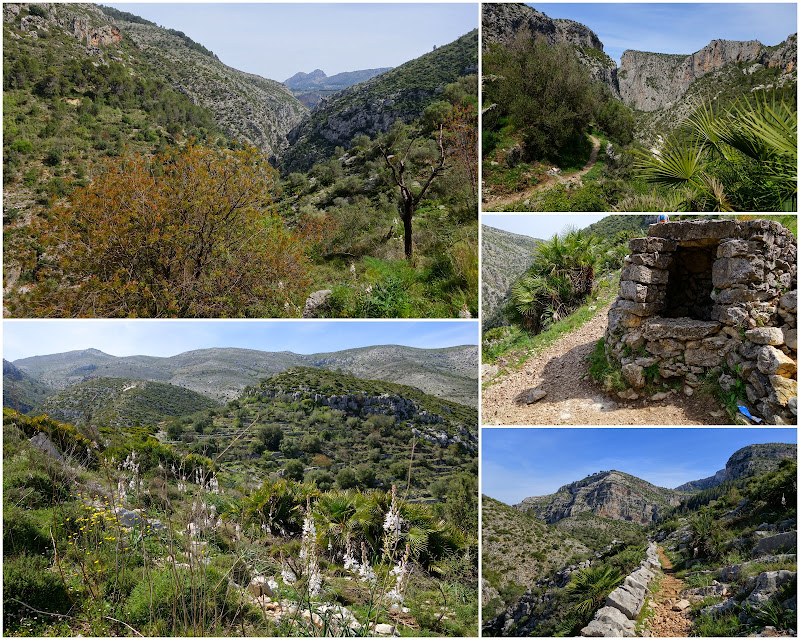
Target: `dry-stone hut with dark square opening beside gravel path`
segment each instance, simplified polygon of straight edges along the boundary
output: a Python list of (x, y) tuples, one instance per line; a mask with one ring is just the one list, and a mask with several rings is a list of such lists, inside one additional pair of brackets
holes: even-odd
[[(744, 381), (750, 412), (797, 422), (797, 242), (768, 220), (650, 225), (630, 241), (608, 312), (606, 355), (634, 389), (709, 371)], [(688, 387), (688, 388), (687, 388)]]

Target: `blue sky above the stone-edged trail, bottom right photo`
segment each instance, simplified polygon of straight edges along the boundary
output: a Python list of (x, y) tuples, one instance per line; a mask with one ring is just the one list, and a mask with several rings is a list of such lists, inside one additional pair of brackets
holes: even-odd
[(797, 443), (797, 430), (481, 429), (481, 491), (506, 504), (598, 471), (624, 471), (659, 487), (707, 478), (748, 444)]

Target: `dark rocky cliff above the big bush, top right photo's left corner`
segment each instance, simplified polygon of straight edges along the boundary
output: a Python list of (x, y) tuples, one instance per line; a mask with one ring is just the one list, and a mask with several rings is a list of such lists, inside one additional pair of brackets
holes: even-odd
[(551, 19), (533, 7), (517, 3), (482, 5), (483, 46), (511, 44), (520, 34), (544, 38), (548, 44), (568, 44), (591, 76), (619, 97), (617, 65), (603, 52), (603, 43), (586, 25), (573, 20)]

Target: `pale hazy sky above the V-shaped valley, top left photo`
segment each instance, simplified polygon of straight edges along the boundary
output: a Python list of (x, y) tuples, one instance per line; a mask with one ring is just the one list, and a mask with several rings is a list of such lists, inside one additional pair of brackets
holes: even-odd
[(462, 3), (109, 3), (183, 31), (236, 69), (283, 82), (298, 71), (396, 67), (477, 29)]

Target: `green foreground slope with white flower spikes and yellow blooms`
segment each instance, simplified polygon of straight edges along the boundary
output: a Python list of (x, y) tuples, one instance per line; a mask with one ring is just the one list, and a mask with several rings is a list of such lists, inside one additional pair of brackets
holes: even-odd
[[(36, 431), (91, 459), (56, 461), (27, 441)], [(393, 490), (242, 482), (144, 434), (107, 437), (4, 412), (6, 635), (297, 636), (318, 621), (477, 634), (474, 486), (420, 505)], [(258, 575), (275, 604), (246, 590)]]

